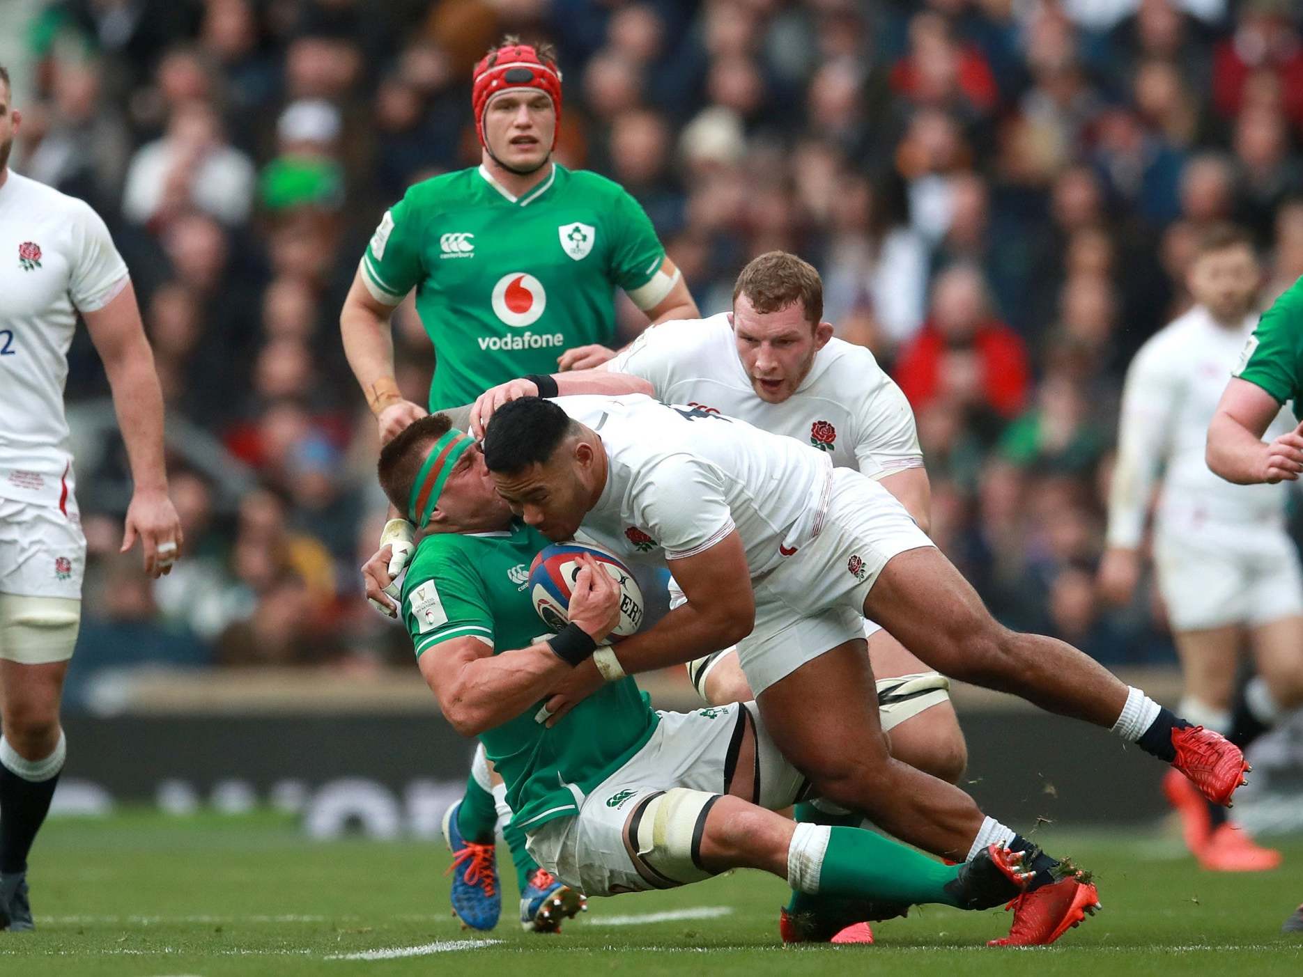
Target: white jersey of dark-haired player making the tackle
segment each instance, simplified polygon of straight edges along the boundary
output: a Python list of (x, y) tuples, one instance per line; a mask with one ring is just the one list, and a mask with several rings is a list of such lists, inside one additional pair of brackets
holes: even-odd
[(584, 530), (632, 559), (675, 560), (734, 528), (758, 576), (813, 539), (827, 512), (827, 455), (745, 421), (641, 393), (556, 397), (602, 438), (606, 488)]

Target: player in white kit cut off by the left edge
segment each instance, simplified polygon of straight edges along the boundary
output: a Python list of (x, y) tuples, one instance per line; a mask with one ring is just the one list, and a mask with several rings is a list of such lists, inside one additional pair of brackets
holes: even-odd
[(163, 396), (136, 293), (104, 221), (82, 201), (9, 172), (14, 133), (0, 68), (0, 929), (33, 929), (27, 853), (66, 745), (59, 724), (81, 623), (86, 539), (64, 419), (81, 313), (104, 361), (132, 478), (122, 551), (167, 573), (181, 524), (163, 466)]

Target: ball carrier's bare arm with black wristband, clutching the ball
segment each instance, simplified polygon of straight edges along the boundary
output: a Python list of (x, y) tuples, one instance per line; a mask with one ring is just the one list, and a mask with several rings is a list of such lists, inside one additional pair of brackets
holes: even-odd
[[(582, 636), (563, 633), (495, 655), (478, 638), (460, 637), (434, 645), (421, 655), (421, 675), (439, 700), (443, 715), (463, 736), (478, 736), (524, 713), (590, 657), (595, 642), (619, 623), (619, 585), (592, 556), (580, 556), (580, 563), (569, 619), (571, 628), (582, 632), (586, 642)], [(567, 637), (572, 641), (579, 637), (586, 647), (564, 644)]]

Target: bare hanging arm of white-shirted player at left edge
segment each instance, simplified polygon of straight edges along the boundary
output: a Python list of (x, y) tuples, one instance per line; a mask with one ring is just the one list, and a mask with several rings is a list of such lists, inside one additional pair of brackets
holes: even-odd
[(145, 337), (136, 289), (128, 281), (104, 307), (82, 314), (91, 343), (104, 362), (113, 409), (132, 465), (130, 505), (122, 531), (122, 552), (141, 538), (145, 572), (159, 577), (172, 569), (180, 552), (181, 520), (167, 494), (163, 465), (163, 392), (154, 371), (154, 350)]

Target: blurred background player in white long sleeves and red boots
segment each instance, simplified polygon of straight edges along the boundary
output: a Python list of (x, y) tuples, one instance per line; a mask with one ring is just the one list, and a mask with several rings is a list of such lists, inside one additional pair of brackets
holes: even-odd
[[(1118, 459), (1109, 495), (1109, 548), (1100, 585), (1127, 603), (1141, 571), (1154, 488), (1153, 561), (1181, 657), (1181, 713), (1246, 746), (1274, 714), (1303, 701), (1303, 574), (1285, 528), (1285, 487), (1225, 482), (1204, 461), (1208, 425), (1237, 357), (1257, 323), (1261, 270), (1247, 233), (1221, 225), (1199, 245), (1187, 284), (1195, 306), (1160, 330), (1127, 370)], [(1294, 429), (1282, 410), (1268, 439)], [(1160, 479), (1160, 469), (1165, 469)], [(1240, 649), (1259, 676), (1237, 703)], [(1181, 812), (1186, 844), (1205, 869), (1280, 865), (1169, 772), (1164, 791)]]

